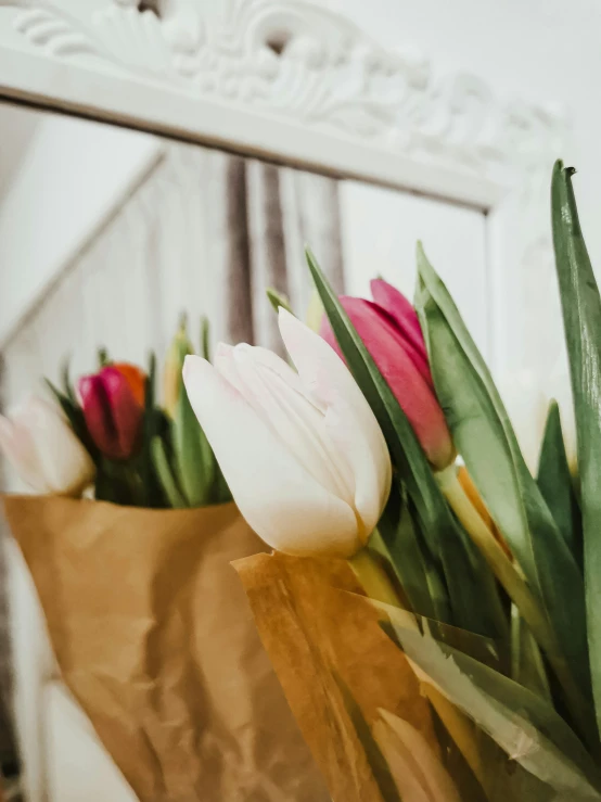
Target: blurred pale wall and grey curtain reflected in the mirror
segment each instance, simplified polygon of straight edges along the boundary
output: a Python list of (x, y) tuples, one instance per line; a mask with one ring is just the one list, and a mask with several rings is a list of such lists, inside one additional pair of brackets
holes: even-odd
[[(155, 3), (143, 5), (157, 12)], [(273, 40), (280, 46), (285, 41)], [(195, 345), (207, 316), (214, 343), (245, 341), (281, 354), (265, 288), (305, 316), (311, 292), (305, 243), (337, 292), (369, 297), (369, 280), (380, 275), (411, 296), (422, 239), (490, 356), (478, 209), (15, 106), (0, 109), (0, 126), (4, 409), (36, 390), (40, 377), (59, 381), (65, 358), (73, 377), (93, 371), (101, 346), (142, 365), (153, 351), (162, 365), (182, 313)], [(2, 484), (22, 489), (8, 467)], [(16, 773), (18, 742), (29, 800), (132, 799), (59, 680), (30, 580), (13, 544), (4, 546), (14, 635), (11, 662), (3, 564), (4, 773)], [(16, 730), (9, 726), (13, 708)]]

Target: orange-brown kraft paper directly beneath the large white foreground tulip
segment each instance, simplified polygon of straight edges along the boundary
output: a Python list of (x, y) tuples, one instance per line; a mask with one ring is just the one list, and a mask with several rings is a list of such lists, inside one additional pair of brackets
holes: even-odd
[(348, 564), (261, 553), (234, 568), (332, 799), (382, 802), (348, 695), (370, 726), (382, 708), (409, 722), (434, 754), (439, 747), (415, 675), (382, 631)]

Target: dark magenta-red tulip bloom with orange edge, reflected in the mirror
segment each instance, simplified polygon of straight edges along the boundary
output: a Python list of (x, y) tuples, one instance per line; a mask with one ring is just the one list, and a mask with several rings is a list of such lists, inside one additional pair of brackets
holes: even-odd
[(127, 364), (110, 365), (79, 380), (79, 400), (88, 431), (110, 459), (129, 459), (140, 447), (144, 383), (144, 373)]

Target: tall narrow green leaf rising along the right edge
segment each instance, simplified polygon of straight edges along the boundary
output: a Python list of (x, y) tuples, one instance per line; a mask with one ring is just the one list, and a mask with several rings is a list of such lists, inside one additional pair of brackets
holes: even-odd
[[(578, 441), (590, 669), (601, 728), (601, 297), (578, 220), (572, 168), (553, 168), (553, 244)], [(572, 596), (572, 586), (564, 585)], [(578, 621), (581, 624), (583, 618)]]

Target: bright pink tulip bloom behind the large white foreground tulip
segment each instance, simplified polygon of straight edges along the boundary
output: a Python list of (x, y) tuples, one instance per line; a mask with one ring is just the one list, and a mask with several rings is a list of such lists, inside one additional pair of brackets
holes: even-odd
[[(341, 303), (388, 382), (427, 459), (443, 470), (455, 459), (455, 448), (427, 361), (418, 315), (409, 301), (382, 279), (371, 282), (374, 301), (341, 297)], [(325, 316), (321, 336), (342, 356)]]

